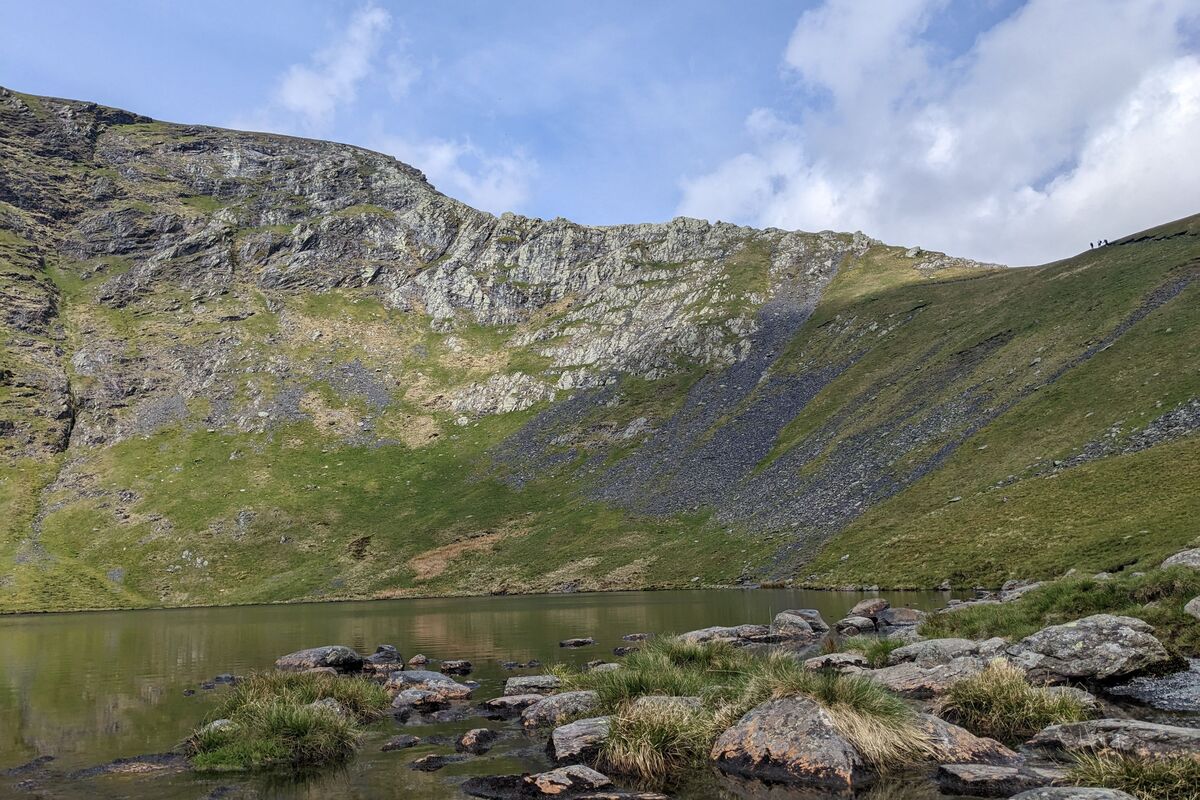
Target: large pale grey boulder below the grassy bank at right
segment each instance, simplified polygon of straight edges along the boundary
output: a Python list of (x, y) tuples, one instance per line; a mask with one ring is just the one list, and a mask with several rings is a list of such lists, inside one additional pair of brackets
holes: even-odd
[(1051, 682), (1110, 681), (1174, 662), (1150, 625), (1112, 614), (1051, 625), (1009, 646), (1007, 652), (1032, 679)]

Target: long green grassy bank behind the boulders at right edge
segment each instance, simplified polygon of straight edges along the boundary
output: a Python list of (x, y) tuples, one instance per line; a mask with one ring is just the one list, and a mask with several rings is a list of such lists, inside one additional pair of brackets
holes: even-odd
[(1183, 655), (1200, 656), (1200, 626), (1183, 613), (1183, 606), (1196, 595), (1200, 572), (1187, 567), (1109, 581), (1063, 578), (1013, 602), (932, 614), (920, 632), (930, 638), (1019, 639), (1091, 614), (1121, 614), (1145, 620), (1159, 639)]

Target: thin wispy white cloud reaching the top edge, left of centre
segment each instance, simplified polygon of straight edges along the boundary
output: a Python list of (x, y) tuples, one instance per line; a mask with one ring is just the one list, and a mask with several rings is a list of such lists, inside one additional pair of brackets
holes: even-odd
[(300, 115), (310, 127), (328, 125), (340, 106), (354, 102), (390, 26), (391, 14), (385, 10), (373, 5), (358, 10), (346, 30), (317, 52), (310, 64), (288, 67), (275, 102)]

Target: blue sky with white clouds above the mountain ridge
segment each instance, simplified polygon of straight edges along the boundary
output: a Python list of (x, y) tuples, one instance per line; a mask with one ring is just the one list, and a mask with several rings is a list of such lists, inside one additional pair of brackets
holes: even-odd
[(1027, 264), (1200, 212), (1194, 0), (0, 8), (0, 84), (350, 142), (490, 211)]

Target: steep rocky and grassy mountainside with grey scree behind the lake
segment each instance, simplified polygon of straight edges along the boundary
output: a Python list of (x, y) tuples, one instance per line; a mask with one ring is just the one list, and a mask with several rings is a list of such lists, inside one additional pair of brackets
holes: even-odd
[(493, 217), (0, 90), (0, 608), (1152, 559), (1200, 511), (1198, 236), (1003, 270)]

